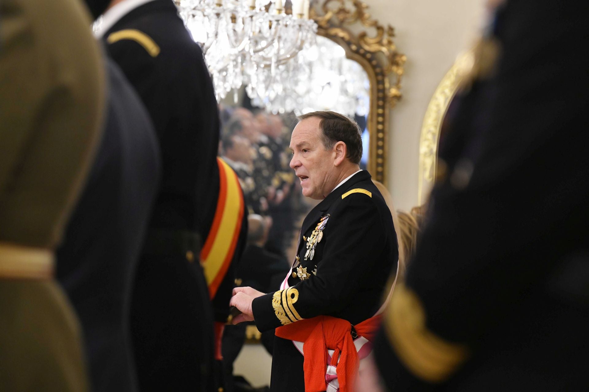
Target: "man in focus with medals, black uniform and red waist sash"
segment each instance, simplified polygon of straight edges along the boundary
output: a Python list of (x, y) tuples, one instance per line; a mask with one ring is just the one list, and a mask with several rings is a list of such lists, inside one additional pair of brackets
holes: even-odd
[[(322, 202), (303, 222), (296, 257), (279, 290), (263, 294), (251, 287), (234, 289), (231, 304), (242, 313), (233, 322), (254, 320), (260, 331), (276, 328), (272, 391), (303, 391), (317, 385), (316, 390), (332, 390), (328, 388), (336, 388), (337, 383), (346, 390), (347, 376), (353, 377), (350, 373), (355, 371), (353, 363), (368, 346), (361, 353), (342, 350), (339, 363), (326, 363), (325, 355), (340, 342), (346, 342), (348, 349), (349, 344), (354, 347), (352, 339), (360, 339), (358, 347), (366, 343), (356, 331), (382, 305), (388, 274), (398, 261), (395, 229), (369, 173), (359, 170), (362, 141), (355, 122), (334, 112), (303, 115), (290, 149), (290, 167), (300, 179), (303, 195)], [(316, 336), (319, 326), (341, 333), (328, 341), (321, 333)], [(305, 338), (299, 337), (299, 331), (308, 331), (306, 338), (316, 344), (303, 350), (300, 339)], [(323, 354), (316, 350), (320, 346), (325, 348)]]

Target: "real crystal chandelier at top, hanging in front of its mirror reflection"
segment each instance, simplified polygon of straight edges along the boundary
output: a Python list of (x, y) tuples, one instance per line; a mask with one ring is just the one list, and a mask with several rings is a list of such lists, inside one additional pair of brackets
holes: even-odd
[(246, 85), (250, 96), (274, 98), (299, 52), (315, 42), (317, 25), (309, 20), (309, 0), (177, 0), (180, 16), (200, 42), (213, 76), (217, 100)]

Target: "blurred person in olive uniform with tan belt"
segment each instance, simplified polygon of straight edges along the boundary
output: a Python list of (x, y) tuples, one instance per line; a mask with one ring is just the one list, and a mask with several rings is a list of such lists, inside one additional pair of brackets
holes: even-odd
[(77, 0), (0, 2), (0, 390), (88, 390), (54, 249), (90, 168), (104, 68)]

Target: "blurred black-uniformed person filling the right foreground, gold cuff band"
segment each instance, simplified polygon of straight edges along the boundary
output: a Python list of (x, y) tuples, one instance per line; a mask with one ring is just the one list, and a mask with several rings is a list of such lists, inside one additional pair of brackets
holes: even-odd
[(588, 18), (507, 1), (479, 43), (375, 344), (386, 390), (587, 389)]

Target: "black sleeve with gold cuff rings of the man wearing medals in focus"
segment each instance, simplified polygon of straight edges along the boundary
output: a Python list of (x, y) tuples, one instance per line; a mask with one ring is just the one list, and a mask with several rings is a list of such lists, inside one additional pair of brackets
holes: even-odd
[(260, 331), (341, 311), (372, 273), (385, 243), (378, 210), (363, 193), (353, 193), (342, 205), (335, 213), (339, 219), (330, 218), (333, 227), (324, 230), (329, 237), (324, 239), (316, 275), (254, 299), (254, 319)]

